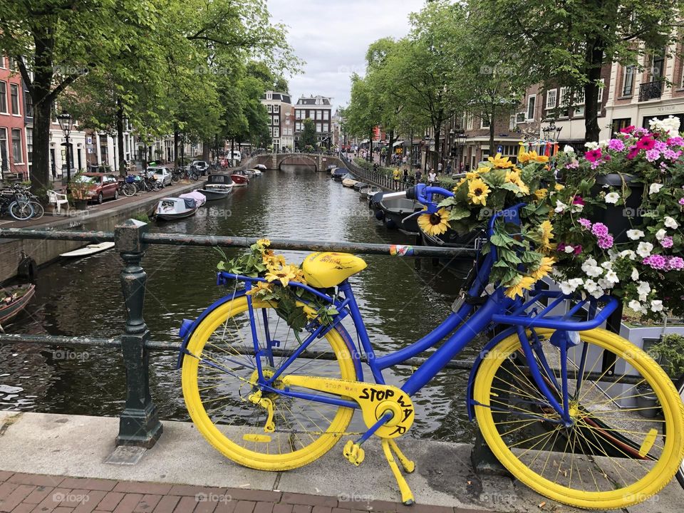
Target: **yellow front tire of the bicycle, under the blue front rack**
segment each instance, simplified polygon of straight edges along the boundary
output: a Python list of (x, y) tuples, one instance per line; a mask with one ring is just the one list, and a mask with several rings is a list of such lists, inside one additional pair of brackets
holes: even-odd
[[(553, 330), (539, 329), (540, 336), (548, 336)], [(648, 384), (660, 400), (665, 422), (665, 445), (663, 452), (653, 468), (641, 479), (628, 487), (611, 491), (588, 492), (561, 486), (538, 475), (519, 460), (509, 449), (502, 435), (497, 430), (492, 417), (490, 403), (492, 381), (499, 367), (509, 355), (518, 351), (520, 341), (517, 335), (504, 338), (490, 351), (480, 364), (475, 375), (473, 398), (476, 401), (475, 415), (480, 432), (487, 445), (499, 462), (518, 480), (557, 502), (584, 509), (616, 509), (628, 507), (642, 502), (657, 494), (672, 479), (680, 467), (684, 457), (684, 405), (675, 387), (653, 359), (644, 351), (633, 346), (626, 339), (603, 329), (594, 329), (580, 333), (581, 339), (596, 344), (603, 349), (613, 351), (648, 379)], [(496, 392), (494, 391), (494, 394)], [(477, 404), (480, 403), (480, 404)]]

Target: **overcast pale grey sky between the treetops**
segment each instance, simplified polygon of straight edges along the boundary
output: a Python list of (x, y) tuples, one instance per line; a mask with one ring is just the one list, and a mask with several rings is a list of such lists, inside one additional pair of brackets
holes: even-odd
[(271, 19), (289, 26), (289, 43), (306, 61), (289, 78), (292, 103), (300, 95), (349, 102), (349, 76), (363, 75), (366, 49), (376, 39), (408, 33), (408, 15), (424, 0), (267, 0)]

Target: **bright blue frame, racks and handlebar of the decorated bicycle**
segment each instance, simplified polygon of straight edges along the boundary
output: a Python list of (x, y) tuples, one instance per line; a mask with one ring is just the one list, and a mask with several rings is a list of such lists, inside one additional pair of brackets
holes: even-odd
[[(442, 195), (445, 197), (451, 196), (452, 192), (442, 189), (440, 187), (426, 187), (425, 185), (418, 185), (415, 187), (415, 197), (419, 202), (427, 206), (427, 212), (435, 212), (437, 207), (434, 202), (432, 202), (432, 195)], [(495, 214), (489, 221), (489, 235), (493, 233), (494, 223), (497, 222), (499, 217), (505, 217), (507, 222), (512, 222), (514, 224), (519, 224), (519, 209), (524, 207), (524, 204), (517, 204), (516, 206), (504, 210)], [(478, 298), (483, 295), (485, 286), (487, 286), (489, 280), (489, 272), (492, 269), (492, 265), (496, 261), (497, 252), (496, 247), (490, 245), (489, 252), (484, 257), (482, 266), (475, 276), (470, 289), (468, 290), (468, 296), (472, 298)], [(249, 276), (239, 276), (235, 274), (230, 274), (226, 272), (219, 273), (219, 284), (227, 284), (228, 281), (239, 280), (244, 281), (246, 286), (246, 291), (248, 292), (252, 289), (252, 284), (257, 281), (266, 281), (259, 277), (249, 277)], [(571, 418), (569, 415), (569, 401), (568, 401), (568, 386), (567, 386), (567, 369), (564, 365), (565, 363), (565, 351), (572, 345), (571, 340), (567, 333), (569, 331), (585, 331), (589, 329), (596, 328), (606, 321), (608, 316), (616, 309), (618, 306), (618, 301), (611, 296), (603, 296), (600, 300), (596, 299), (581, 299), (576, 301), (576, 304), (569, 309), (569, 311), (564, 316), (550, 316), (550, 312), (554, 310), (556, 306), (563, 303), (568, 299), (573, 299), (571, 296), (566, 296), (560, 291), (532, 291), (530, 297), (527, 301), (524, 299), (509, 299), (504, 296), (504, 290), (502, 287), (494, 289), (492, 294), (487, 295), (484, 304), (480, 306), (477, 311), (473, 312), (474, 306), (464, 302), (460, 309), (456, 312), (447, 316), (445, 321), (440, 323), (435, 329), (430, 333), (427, 333), (423, 338), (410, 344), (409, 346), (389, 353), (385, 356), (376, 357), (375, 351), (373, 351), (373, 346), (371, 340), (368, 337), (368, 331), (366, 330), (366, 325), (363, 323), (363, 318), (361, 316), (361, 311), (358, 308), (356, 298), (354, 297), (353, 291), (351, 289), (351, 284), (348, 280), (343, 281), (338, 285), (338, 293), (335, 296), (328, 296), (318, 289), (314, 289), (306, 284), (301, 284), (297, 282), (290, 282), (290, 286), (299, 287), (305, 289), (318, 296), (318, 298), (326, 301), (327, 303), (334, 305), (339, 312), (333, 317), (333, 322), (331, 324), (318, 323), (316, 319), (311, 321), (307, 326), (309, 331), (309, 336), (306, 337), (304, 341), (296, 350), (286, 358), (286, 360), (281, 363), (281, 365), (275, 370), (274, 374), (269, 378), (264, 378), (262, 367), (261, 367), (261, 357), (266, 358), (269, 364), (273, 366), (273, 347), (274, 341), (271, 341), (269, 336), (269, 330), (267, 328), (266, 313), (264, 311), (264, 323), (266, 324), (266, 341), (259, 341), (257, 336), (257, 314), (252, 306), (252, 296), (247, 294), (247, 303), (249, 311), (249, 323), (252, 331), (252, 338), (254, 341), (254, 351), (255, 360), (257, 363), (258, 371), (258, 383), (264, 388), (264, 390), (269, 390), (282, 395), (289, 395), (295, 398), (303, 398), (306, 400), (312, 400), (319, 403), (327, 403), (331, 405), (346, 406), (348, 408), (357, 408), (358, 405), (351, 401), (342, 398), (336, 398), (329, 395), (321, 395), (319, 393), (306, 393), (306, 392), (295, 392), (294, 390), (282, 390), (274, 386), (274, 382), (279, 376), (284, 373), (284, 371), (291, 366), (294, 361), (296, 361), (299, 356), (301, 356), (306, 348), (308, 348), (311, 343), (317, 338), (321, 338), (334, 328), (338, 328), (341, 333), (343, 333), (343, 338), (345, 339), (349, 350), (351, 351), (356, 371), (359, 380), (363, 380), (363, 373), (361, 371), (360, 365), (360, 355), (353, 347), (353, 342), (346, 336), (346, 330), (341, 325), (343, 318), (351, 316), (354, 327), (356, 329), (356, 334), (358, 336), (358, 341), (361, 344), (359, 348), (361, 353), (366, 355), (366, 362), (373, 375), (373, 380), (375, 383), (384, 385), (385, 379), (383, 377), (383, 369), (390, 368), (404, 361), (408, 358), (423, 353), (427, 349), (430, 349), (440, 343), (440, 341), (446, 338), (445, 343), (440, 346), (434, 353), (432, 353), (411, 376), (408, 378), (401, 389), (408, 393), (408, 395), (414, 395), (418, 390), (423, 388), (437, 373), (439, 373), (442, 368), (444, 368), (447, 363), (452, 360), (460, 351), (467, 346), (470, 341), (472, 341), (475, 336), (487, 329), (493, 324), (504, 324), (509, 325), (509, 328), (503, 333), (490, 341), (487, 346), (482, 350), (483, 353), (477, 358), (475, 367), (472, 369), (470, 374), (470, 383), (468, 385), (469, 397), (468, 404), (470, 407), (470, 413), (472, 417), (472, 405), (475, 405), (475, 401), (472, 400), (470, 395), (470, 390), (472, 389), (472, 380), (477, 372), (477, 364), (482, 361), (484, 357), (484, 352), (489, 351), (493, 346), (496, 345), (502, 338), (509, 336), (512, 333), (517, 333), (519, 340), (521, 341), (522, 350), (527, 361), (527, 366), (529, 368), (530, 374), (534, 380), (535, 385), (539, 388), (541, 393), (544, 394), (546, 400), (549, 401), (554, 410), (559, 414), (560, 419), (555, 422), (565, 423), (569, 425), (571, 423)], [(547, 301), (548, 306), (542, 308), (540, 305), (541, 299), (549, 299)], [(550, 299), (553, 299), (551, 301)], [(597, 304), (599, 301), (605, 301), (606, 306), (598, 310)], [(581, 309), (585, 306), (589, 309), (589, 320), (587, 321), (576, 321), (576, 314), (578, 314)], [(197, 323), (197, 321), (195, 321)], [(546, 358), (544, 353), (539, 350), (539, 343), (536, 333), (534, 333), (534, 328), (551, 328), (557, 330), (554, 336), (551, 338), (551, 343), (559, 347), (561, 351), (561, 373), (559, 378), (561, 378), (561, 383), (558, 383), (556, 375), (551, 371), (548, 363), (546, 363)], [(187, 332), (192, 332), (192, 329), (186, 329)], [(532, 334), (533, 343), (530, 343), (528, 338), (528, 331)], [(187, 338), (184, 343), (187, 343)], [(586, 358), (586, 352), (583, 358)], [(541, 366), (541, 368), (540, 368)], [(580, 363), (580, 369), (584, 368), (584, 361)], [(579, 376), (582, 373), (580, 372)], [(580, 377), (578, 377), (578, 380)], [(554, 391), (551, 391), (551, 388)], [(562, 398), (562, 405), (556, 398)]]

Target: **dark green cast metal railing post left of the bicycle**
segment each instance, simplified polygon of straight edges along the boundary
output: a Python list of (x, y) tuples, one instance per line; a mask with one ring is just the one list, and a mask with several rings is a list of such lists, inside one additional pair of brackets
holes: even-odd
[(162, 434), (162, 423), (150, 395), (150, 353), (145, 348), (150, 331), (142, 318), (147, 274), (140, 266), (140, 260), (147, 247), (142, 242), (142, 234), (147, 229), (147, 224), (135, 219), (128, 219), (114, 229), (115, 247), (125, 263), (121, 286), (127, 312), (121, 337), (126, 368), (126, 404), (119, 419), (116, 445), (150, 448)]

